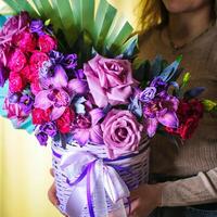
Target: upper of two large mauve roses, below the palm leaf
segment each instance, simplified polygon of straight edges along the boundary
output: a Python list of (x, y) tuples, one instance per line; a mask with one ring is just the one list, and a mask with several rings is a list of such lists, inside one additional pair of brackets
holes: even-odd
[(99, 107), (126, 104), (132, 93), (131, 64), (127, 60), (95, 55), (84, 66), (90, 92)]

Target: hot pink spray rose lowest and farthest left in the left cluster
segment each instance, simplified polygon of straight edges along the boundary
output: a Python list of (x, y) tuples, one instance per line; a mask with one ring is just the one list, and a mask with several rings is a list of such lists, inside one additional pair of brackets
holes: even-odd
[(24, 89), (24, 81), (16, 72), (11, 72), (9, 76), (9, 89), (11, 92), (21, 92)]

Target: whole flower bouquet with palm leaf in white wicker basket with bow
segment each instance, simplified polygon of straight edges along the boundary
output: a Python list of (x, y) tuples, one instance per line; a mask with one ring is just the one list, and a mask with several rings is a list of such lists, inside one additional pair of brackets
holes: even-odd
[(138, 61), (132, 27), (105, 0), (4, 1), (16, 15), (1, 16), (0, 114), (50, 139), (63, 214), (126, 216), (129, 190), (148, 181), (150, 138), (190, 138), (216, 103), (184, 91), (188, 73), (176, 82), (180, 56)]

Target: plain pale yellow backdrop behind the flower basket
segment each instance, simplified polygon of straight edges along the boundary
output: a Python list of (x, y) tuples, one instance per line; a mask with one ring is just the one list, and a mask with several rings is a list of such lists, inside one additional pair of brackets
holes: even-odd
[[(136, 26), (139, 0), (108, 0)], [(3, 7), (0, 0), (1, 8)], [(61, 217), (47, 197), (51, 152), (0, 117), (0, 216)]]

